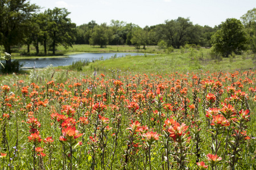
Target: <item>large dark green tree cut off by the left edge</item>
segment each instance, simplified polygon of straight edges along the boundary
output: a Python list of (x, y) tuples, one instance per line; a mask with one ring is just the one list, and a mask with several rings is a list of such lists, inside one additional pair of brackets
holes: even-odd
[[(5, 52), (11, 54), (11, 46), (24, 41), (30, 26), (28, 21), (38, 9), (26, 0), (0, 1), (0, 45), (5, 47)], [(10, 64), (11, 59), (7, 61), (7, 65)]]

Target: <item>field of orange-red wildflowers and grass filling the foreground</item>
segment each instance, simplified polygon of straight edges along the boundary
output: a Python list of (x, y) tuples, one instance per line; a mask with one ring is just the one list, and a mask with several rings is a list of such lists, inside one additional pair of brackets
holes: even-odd
[(1, 169), (256, 169), (256, 71), (1, 79)]

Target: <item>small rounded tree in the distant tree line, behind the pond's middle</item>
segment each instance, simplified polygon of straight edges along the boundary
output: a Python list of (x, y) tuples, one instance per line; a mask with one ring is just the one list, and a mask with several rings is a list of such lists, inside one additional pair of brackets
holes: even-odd
[(90, 37), (90, 45), (100, 45), (101, 48), (108, 45), (113, 39), (113, 32), (106, 23), (97, 25), (93, 29), (92, 37)]

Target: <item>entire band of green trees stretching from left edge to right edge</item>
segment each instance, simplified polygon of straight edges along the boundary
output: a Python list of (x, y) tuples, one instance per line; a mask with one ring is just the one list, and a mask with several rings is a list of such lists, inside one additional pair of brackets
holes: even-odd
[[(39, 45), (43, 54), (55, 54), (56, 46), (66, 48), (73, 44), (134, 45), (145, 49), (147, 45), (163, 48), (180, 48), (185, 44), (213, 46), (216, 53), (228, 57), (232, 52), (251, 49), (256, 52), (256, 8), (248, 11), (241, 20), (227, 19), (214, 28), (193, 24), (189, 18), (166, 20), (162, 24), (139, 27), (133, 23), (111, 20), (110, 24), (97, 24), (94, 20), (76, 26), (68, 18), (65, 8), (39, 12), (40, 7), (26, 0), (2, 0), (0, 2), (0, 45), (11, 53), (11, 46)], [(241, 22), (242, 21), (242, 22)]]

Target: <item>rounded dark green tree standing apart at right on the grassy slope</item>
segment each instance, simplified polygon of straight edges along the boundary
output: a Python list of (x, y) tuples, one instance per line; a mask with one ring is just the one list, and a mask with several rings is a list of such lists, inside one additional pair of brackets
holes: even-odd
[(214, 51), (223, 57), (245, 50), (247, 39), (241, 21), (235, 18), (226, 19), (212, 36), (212, 42)]

